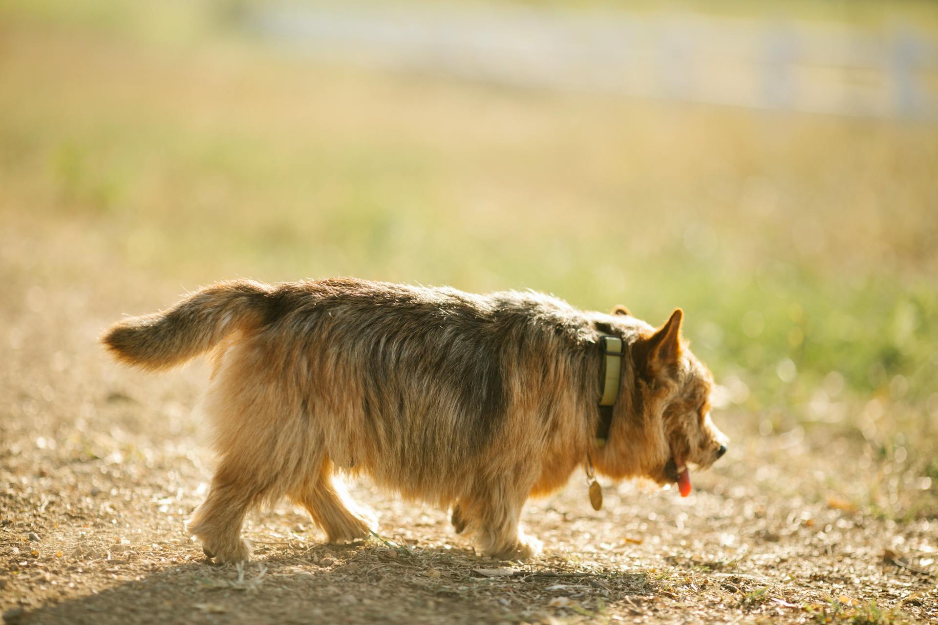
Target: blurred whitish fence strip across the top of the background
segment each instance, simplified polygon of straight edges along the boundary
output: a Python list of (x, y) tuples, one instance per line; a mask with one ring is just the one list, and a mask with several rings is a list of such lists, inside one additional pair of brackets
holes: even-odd
[(250, 27), (319, 57), (548, 87), (873, 117), (938, 112), (934, 37), (693, 13), (536, 7), (266, 7)]

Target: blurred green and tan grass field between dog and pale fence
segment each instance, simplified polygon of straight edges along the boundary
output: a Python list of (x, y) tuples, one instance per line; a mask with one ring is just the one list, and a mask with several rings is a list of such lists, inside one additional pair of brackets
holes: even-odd
[(0, 5), (0, 210), (78, 232), (62, 272), (101, 248), (186, 288), (682, 306), (754, 423), (835, 424), (884, 457), (938, 430), (934, 126), (373, 73), (239, 37), (223, 3), (76, 7)]

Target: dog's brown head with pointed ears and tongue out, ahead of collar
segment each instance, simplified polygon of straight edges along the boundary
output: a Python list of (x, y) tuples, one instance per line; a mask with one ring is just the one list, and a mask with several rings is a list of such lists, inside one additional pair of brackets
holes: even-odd
[[(628, 309), (613, 314), (630, 318)], [(674, 310), (660, 328), (629, 319), (631, 384), (613, 417), (604, 456), (619, 476), (643, 476), (658, 484), (678, 484), (690, 492), (688, 465), (707, 469), (726, 453), (729, 439), (710, 419), (713, 377), (681, 339), (683, 312)], [(632, 321), (634, 320), (634, 321)], [(618, 422), (618, 423), (615, 423)], [(614, 457), (611, 457), (614, 456)], [(605, 464), (605, 463), (604, 463)]]

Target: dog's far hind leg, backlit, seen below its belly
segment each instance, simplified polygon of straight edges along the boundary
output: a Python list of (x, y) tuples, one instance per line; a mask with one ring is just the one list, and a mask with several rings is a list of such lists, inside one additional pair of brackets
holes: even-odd
[(329, 543), (348, 543), (367, 538), (375, 527), (371, 513), (348, 495), (345, 484), (334, 479), (332, 461), (325, 459), (318, 474), (300, 485), (290, 498), (306, 508), (312, 520), (325, 531)]

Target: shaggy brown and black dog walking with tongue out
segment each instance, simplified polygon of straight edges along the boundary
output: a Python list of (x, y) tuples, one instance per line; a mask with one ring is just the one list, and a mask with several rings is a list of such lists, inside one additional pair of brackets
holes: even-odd
[[(250, 557), (245, 514), (284, 496), (330, 542), (369, 535), (337, 471), (453, 506), (453, 524), (499, 558), (537, 551), (524, 501), (601, 474), (689, 490), (686, 463), (725, 452), (712, 379), (680, 340), (617, 308), (582, 312), (537, 292), (475, 295), (351, 278), (222, 282), (102, 341), (129, 365), (167, 369), (210, 352), (205, 398), (219, 465), (189, 530), (223, 562)], [(605, 355), (623, 341), (608, 442), (597, 440)]]

